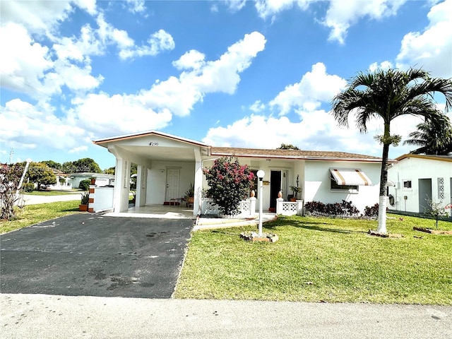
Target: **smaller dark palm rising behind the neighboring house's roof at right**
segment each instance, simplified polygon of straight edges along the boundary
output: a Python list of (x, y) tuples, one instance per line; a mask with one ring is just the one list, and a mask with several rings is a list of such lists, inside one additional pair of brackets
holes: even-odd
[(410, 139), (403, 141), (403, 145), (421, 146), (410, 153), (413, 154), (444, 154), (452, 146), (451, 121), (445, 115), (439, 119), (426, 119), (417, 124), (417, 131), (408, 134)]

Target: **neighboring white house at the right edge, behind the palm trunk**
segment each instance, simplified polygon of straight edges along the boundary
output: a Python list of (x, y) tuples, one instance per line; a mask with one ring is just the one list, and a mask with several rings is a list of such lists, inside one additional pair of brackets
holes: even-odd
[(405, 154), (388, 169), (388, 208), (424, 213), (429, 201), (452, 203), (452, 156)]

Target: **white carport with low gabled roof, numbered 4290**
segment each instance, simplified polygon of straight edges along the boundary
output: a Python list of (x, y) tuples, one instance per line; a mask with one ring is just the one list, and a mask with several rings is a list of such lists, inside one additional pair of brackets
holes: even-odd
[[(136, 207), (164, 205), (180, 198), (190, 184), (195, 196), (192, 215), (198, 213), (203, 180), (202, 157), (210, 146), (157, 131), (93, 141), (116, 157), (114, 213), (129, 210), (131, 164), (137, 165)], [(136, 210), (138, 211), (138, 210)]]

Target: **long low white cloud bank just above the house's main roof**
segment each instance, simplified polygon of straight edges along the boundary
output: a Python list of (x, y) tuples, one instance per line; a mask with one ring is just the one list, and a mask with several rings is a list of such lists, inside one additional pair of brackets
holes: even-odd
[[(302, 150), (331, 150), (381, 157), (382, 146), (374, 140), (381, 134), (383, 123), (371, 121), (368, 133), (362, 134), (355, 128), (337, 126), (333, 116), (323, 110), (299, 112), (301, 121), (290, 121), (287, 117), (263, 117), (251, 115), (225, 127), (210, 128), (203, 138), (209, 145), (244, 148), (278, 148), (281, 143), (297, 145)], [(415, 131), (420, 119), (399, 117), (391, 123), (391, 133), (400, 134), (403, 140)], [(391, 158), (409, 153), (412, 146), (391, 146)]]

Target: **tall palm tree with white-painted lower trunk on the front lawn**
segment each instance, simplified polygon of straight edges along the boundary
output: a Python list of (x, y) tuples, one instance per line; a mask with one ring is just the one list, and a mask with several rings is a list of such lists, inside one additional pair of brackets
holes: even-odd
[(379, 226), (377, 232), (386, 231), (386, 184), (388, 182), (389, 145), (398, 145), (400, 136), (391, 135), (391, 121), (404, 114), (425, 117), (436, 121), (443, 114), (436, 109), (434, 94), (446, 97), (446, 112), (452, 108), (451, 79), (430, 78), (422, 69), (400, 71), (378, 69), (372, 73), (358, 73), (350, 79), (347, 88), (333, 98), (331, 113), (339, 126), (348, 127), (350, 113), (356, 114), (356, 126), (367, 132), (372, 118), (383, 119), (384, 132), (376, 136), (383, 144), (379, 192)]

